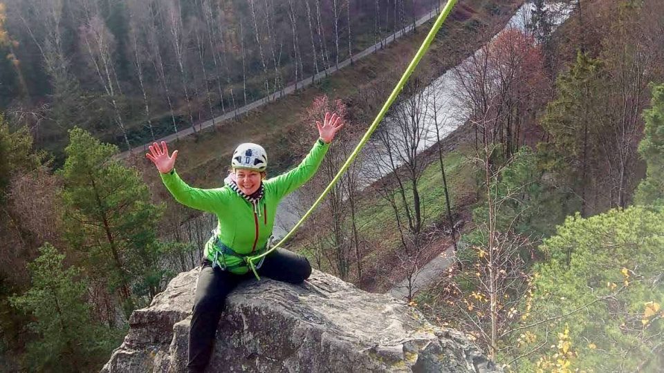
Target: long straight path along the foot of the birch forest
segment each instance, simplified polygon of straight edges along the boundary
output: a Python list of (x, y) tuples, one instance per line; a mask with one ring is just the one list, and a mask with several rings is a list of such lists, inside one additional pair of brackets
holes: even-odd
[[(165, 137), (161, 137), (160, 139), (156, 140), (157, 142), (162, 142), (165, 141), (167, 143), (172, 142), (174, 140), (181, 139), (182, 137), (185, 137), (187, 135), (191, 135), (194, 133), (194, 128), (196, 131), (201, 131), (205, 128), (209, 128), (211, 126), (216, 126), (220, 122), (224, 122), (225, 120), (232, 119), (234, 117), (237, 117), (238, 115), (247, 113), (248, 111), (251, 111), (255, 108), (258, 108), (260, 106), (263, 106), (265, 104), (268, 104), (269, 102), (273, 102), (276, 99), (280, 97), (284, 97), (285, 95), (290, 95), (291, 93), (294, 93), (295, 90), (302, 89), (306, 86), (309, 86), (315, 82), (320, 81), (320, 79), (326, 78), (328, 75), (331, 73), (334, 73), (337, 70), (340, 70), (346, 66), (349, 66), (352, 64), (354, 61), (358, 61), (359, 59), (362, 59), (364, 57), (367, 57), (368, 55), (371, 55), (371, 53), (374, 53), (382, 48), (385, 48), (388, 44), (392, 43), (396, 39), (399, 39), (400, 37), (403, 37), (406, 35), (408, 32), (411, 32), (414, 28), (418, 28), (419, 26), (422, 26), (424, 23), (429, 21), (430, 19), (436, 17), (438, 15), (438, 10), (434, 9), (431, 10), (430, 12), (427, 13), (427, 15), (421, 17), (415, 22), (415, 25), (410, 24), (409, 26), (403, 28), (402, 30), (398, 30), (397, 32), (394, 32), (394, 34), (387, 36), (385, 39), (382, 39), (381, 41), (378, 41), (378, 43), (374, 44), (373, 46), (370, 46), (369, 48), (366, 48), (365, 50), (362, 50), (362, 52), (357, 53), (356, 55), (353, 55), (353, 57), (346, 59), (344, 61), (341, 61), (338, 65), (332, 66), (331, 68), (328, 68), (324, 71), (321, 71), (320, 73), (317, 73), (313, 77), (308, 77), (306, 79), (302, 79), (299, 82), (295, 82), (294, 84), (291, 84), (290, 86), (286, 86), (286, 88), (279, 90), (272, 95), (268, 95), (266, 97), (263, 97), (261, 99), (258, 99), (255, 102), (252, 102), (251, 104), (247, 104), (245, 106), (241, 106), (240, 108), (236, 108), (234, 111), (229, 111), (228, 113), (225, 113), (223, 115), (219, 115), (218, 117), (214, 117), (212, 119), (206, 120), (205, 122), (201, 122), (199, 124), (194, 124), (194, 127), (188, 127), (185, 128), (181, 131), (178, 131), (176, 133), (173, 133), (172, 135), (168, 135)], [(117, 155), (118, 159), (124, 159), (127, 158), (131, 154), (136, 154), (136, 153), (141, 153), (147, 151), (147, 146), (151, 145), (152, 142), (148, 142), (146, 144), (142, 144), (140, 146), (136, 146), (132, 148), (129, 151), (124, 151), (120, 154)]]

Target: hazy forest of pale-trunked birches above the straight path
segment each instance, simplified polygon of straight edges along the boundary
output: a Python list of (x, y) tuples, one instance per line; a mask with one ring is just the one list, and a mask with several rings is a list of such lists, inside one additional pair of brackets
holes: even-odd
[[(35, 142), (121, 150), (313, 78), (432, 9), (426, 0), (3, 0), (0, 110)], [(296, 87), (297, 88), (297, 87)], [(91, 109), (93, 108), (93, 109)], [(194, 131), (196, 128), (194, 127)]]

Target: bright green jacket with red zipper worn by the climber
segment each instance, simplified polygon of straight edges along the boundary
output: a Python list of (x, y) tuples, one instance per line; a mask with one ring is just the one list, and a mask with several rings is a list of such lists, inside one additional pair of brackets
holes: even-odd
[[(288, 193), (295, 191), (316, 173), (329, 144), (317, 140), (313, 149), (295, 169), (276, 178), (264, 180), (264, 196), (257, 206), (258, 213), (250, 202), (242, 198), (227, 185), (216, 189), (198, 189), (187, 185), (175, 170), (162, 173), (161, 179), (173, 197), (192, 209), (214, 213), (219, 219), (216, 232), (223, 245), (238, 254), (251, 254), (266, 247), (272, 236), (277, 205)], [(211, 261), (217, 250), (212, 236), (205, 244), (205, 257)], [(221, 261), (223, 254), (219, 254)], [(241, 264), (237, 256), (224, 256), (226, 265), (234, 267)], [(248, 267), (241, 266), (231, 270), (235, 274), (246, 274)]]

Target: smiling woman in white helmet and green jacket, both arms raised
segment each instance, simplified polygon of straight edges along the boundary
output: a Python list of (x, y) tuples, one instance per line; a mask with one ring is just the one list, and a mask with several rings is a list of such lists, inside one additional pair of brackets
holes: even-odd
[[(219, 219), (212, 238), (205, 244), (203, 267), (196, 284), (187, 365), (190, 372), (203, 372), (208, 365), (225, 298), (250, 277), (248, 256), (266, 251), (277, 204), (315, 174), (343, 124), (338, 115), (325, 113), (323, 124), (316, 122), (316, 126), (319, 139), (302, 163), (269, 180), (265, 180), (265, 150), (257, 144), (241, 144), (233, 152), (225, 185), (217, 189), (188, 186), (174, 169), (178, 151), (169, 156), (165, 142), (149, 146), (146, 157), (157, 167), (173, 197), (187, 207), (214, 213)], [(303, 256), (279, 248), (257, 263), (257, 271), (261, 276), (296, 284), (308, 278), (311, 265)]]

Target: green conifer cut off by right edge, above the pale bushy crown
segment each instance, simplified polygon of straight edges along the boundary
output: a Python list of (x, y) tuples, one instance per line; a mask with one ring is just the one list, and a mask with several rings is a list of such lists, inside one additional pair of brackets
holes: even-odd
[(645, 128), (638, 153), (647, 165), (646, 177), (636, 189), (637, 204), (664, 204), (664, 84), (652, 86), (652, 107), (643, 112)]

